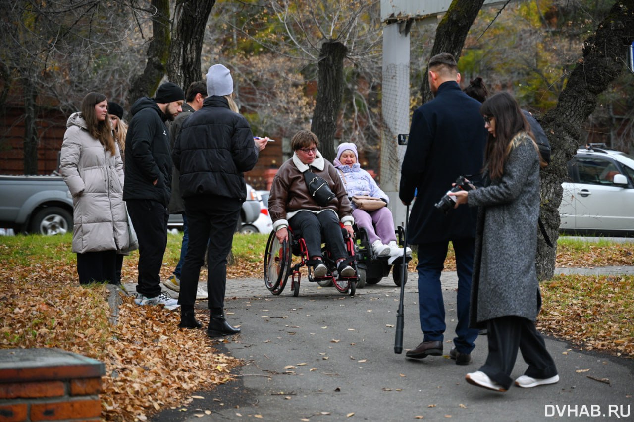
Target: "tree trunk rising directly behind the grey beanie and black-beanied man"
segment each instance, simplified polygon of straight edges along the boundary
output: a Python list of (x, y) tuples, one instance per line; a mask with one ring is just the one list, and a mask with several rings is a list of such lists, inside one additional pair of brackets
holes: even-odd
[(216, 0), (181, 0), (176, 3), (167, 77), (170, 82), (183, 87), (183, 91), (191, 82), (202, 79), (200, 52), (214, 4)]

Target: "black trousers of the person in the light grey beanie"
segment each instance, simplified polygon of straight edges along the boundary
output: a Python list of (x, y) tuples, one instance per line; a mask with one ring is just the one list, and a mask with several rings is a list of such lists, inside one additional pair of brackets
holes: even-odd
[(224, 314), (227, 255), (231, 252), (242, 201), (224, 196), (193, 196), (184, 198), (184, 203), (190, 240), (181, 271), (178, 303), (184, 308), (196, 302), (200, 267), (207, 250), (207, 306), (213, 315)]

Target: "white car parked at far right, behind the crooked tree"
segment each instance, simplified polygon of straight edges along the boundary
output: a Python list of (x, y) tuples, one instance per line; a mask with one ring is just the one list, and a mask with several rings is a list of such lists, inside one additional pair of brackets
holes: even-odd
[(634, 157), (591, 144), (568, 163), (562, 233), (634, 236)]

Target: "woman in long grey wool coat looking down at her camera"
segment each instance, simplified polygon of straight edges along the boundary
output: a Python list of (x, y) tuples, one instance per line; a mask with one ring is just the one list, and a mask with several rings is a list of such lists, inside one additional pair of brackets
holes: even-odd
[(477, 387), (505, 392), (522, 352), (528, 368), (515, 380), (523, 388), (559, 381), (535, 320), (541, 307), (535, 269), (540, 215), (537, 145), (517, 101), (508, 93), (482, 103), (486, 144), (484, 188), (458, 191), (456, 207), (479, 207), (470, 325), (488, 329), (489, 354), (479, 371), (466, 376)]

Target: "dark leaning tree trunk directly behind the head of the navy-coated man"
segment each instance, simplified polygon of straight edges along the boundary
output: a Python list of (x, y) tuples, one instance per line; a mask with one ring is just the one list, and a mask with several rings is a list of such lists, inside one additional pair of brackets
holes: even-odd
[[(482, 4), (484, 4), (484, 0), (453, 0), (451, 2), (449, 10), (444, 14), (443, 20), (436, 28), (436, 39), (430, 58), (440, 53), (451, 53), (458, 61), (469, 29), (477, 18)], [(423, 82), (420, 85), (422, 104), (433, 98), (427, 75), (429, 75), (429, 66), (425, 70)]]

